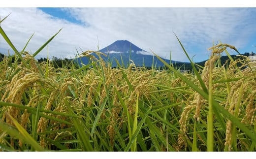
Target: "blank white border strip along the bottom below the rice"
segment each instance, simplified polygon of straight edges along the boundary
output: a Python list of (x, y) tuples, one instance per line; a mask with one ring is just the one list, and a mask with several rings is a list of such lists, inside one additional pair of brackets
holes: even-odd
[(255, 152), (0, 152), (2, 159), (245, 159)]

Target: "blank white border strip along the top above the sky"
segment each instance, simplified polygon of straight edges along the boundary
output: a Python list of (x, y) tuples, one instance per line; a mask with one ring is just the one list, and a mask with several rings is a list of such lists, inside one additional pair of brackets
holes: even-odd
[(0, 7), (256, 7), (255, 0), (2, 0)]

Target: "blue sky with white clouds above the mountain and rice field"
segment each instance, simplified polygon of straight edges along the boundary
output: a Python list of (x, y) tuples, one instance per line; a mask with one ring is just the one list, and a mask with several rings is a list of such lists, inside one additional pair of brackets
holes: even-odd
[[(80, 5), (79, 5), (80, 6)], [(256, 52), (256, 8), (246, 7), (2, 7), (1, 27), (18, 50), (34, 33), (27, 51), (35, 52), (51, 36), (62, 31), (37, 58), (72, 58), (97, 50), (116, 40), (128, 40), (139, 48), (172, 60), (188, 62), (174, 33), (194, 62), (207, 60), (210, 48), (221, 40), (240, 53)], [(250, 5), (252, 6), (252, 5)], [(43, 5), (44, 7), (44, 5)], [(0, 52), (10, 47), (0, 37)], [(236, 54), (228, 50), (230, 54)]]

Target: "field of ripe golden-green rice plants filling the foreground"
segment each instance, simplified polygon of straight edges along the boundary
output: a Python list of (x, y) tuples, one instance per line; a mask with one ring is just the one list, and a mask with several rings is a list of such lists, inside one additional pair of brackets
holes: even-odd
[(219, 63), (234, 46), (192, 73), (112, 69), (90, 51), (90, 64), (55, 68), (36, 55), (59, 32), (33, 54), (0, 33), (15, 51), (0, 61), (0, 151), (256, 151), (256, 63)]

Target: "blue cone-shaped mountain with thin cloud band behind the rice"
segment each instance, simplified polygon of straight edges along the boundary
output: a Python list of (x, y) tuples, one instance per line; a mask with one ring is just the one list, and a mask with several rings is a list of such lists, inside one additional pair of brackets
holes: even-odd
[[(104, 61), (112, 63), (111, 66), (113, 67), (118, 67), (116, 60), (119, 62), (121, 66), (123, 65), (122, 62), (124, 63), (124, 66), (128, 66), (131, 63), (129, 60), (132, 60), (134, 64), (136, 64), (136, 66), (151, 67), (153, 61), (154, 66), (164, 66), (164, 64), (160, 62), (160, 60), (157, 57), (153, 56), (152, 53), (142, 50), (141, 48), (132, 44), (128, 40), (115, 41), (111, 45), (99, 50), (99, 52), (102, 52), (107, 55), (107, 57), (102, 56), (102, 58), (104, 59)], [(95, 53), (92, 53), (91, 55), (97, 57)], [(83, 64), (89, 63), (89, 59), (87, 57), (82, 57), (80, 58), (80, 60), (83, 62)], [(163, 60), (167, 64), (170, 64), (170, 60)], [(177, 62), (172, 61), (172, 63)]]

